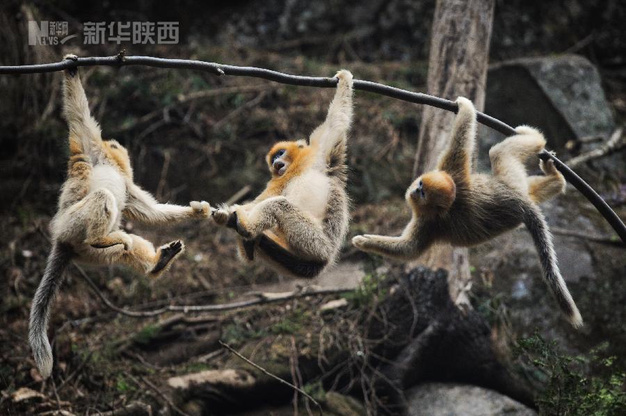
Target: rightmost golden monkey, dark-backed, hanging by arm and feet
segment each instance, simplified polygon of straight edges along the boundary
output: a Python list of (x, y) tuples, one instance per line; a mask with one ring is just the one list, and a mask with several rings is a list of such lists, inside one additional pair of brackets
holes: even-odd
[(435, 170), (415, 179), (406, 191), (412, 218), (400, 237), (360, 235), (360, 250), (401, 260), (416, 259), (433, 243), (474, 246), (524, 223), (538, 251), (543, 274), (572, 326), (580, 313), (556, 262), (540, 202), (565, 190), (565, 179), (552, 161), (540, 161), (545, 175), (528, 176), (524, 163), (545, 147), (532, 127), (520, 126), (515, 136), (489, 151), (492, 175), (472, 173), (476, 110), (470, 100), (457, 99), (458, 115), (447, 150)]

